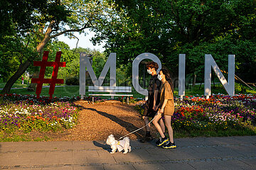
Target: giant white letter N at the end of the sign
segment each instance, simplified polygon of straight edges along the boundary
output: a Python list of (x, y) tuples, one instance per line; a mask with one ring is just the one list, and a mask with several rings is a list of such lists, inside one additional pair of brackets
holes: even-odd
[(210, 96), (210, 84), (211, 84), (211, 68), (213, 68), (218, 79), (220, 79), (221, 84), (223, 84), (225, 91), (228, 95), (235, 95), (235, 55), (228, 55), (228, 81), (223, 76), (218, 65), (214, 61), (211, 55), (206, 55), (205, 57), (205, 96), (209, 98)]

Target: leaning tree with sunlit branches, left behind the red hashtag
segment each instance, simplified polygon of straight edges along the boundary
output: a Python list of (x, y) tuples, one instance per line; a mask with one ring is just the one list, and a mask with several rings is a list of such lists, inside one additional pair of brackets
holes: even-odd
[[(13, 0), (6, 1), (6, 6), (3, 5), (1, 15), (11, 15), (3, 21), (8, 23), (8, 29), (1, 36), (1, 51), (8, 53), (10, 48), (5, 47), (5, 44), (12, 41), (20, 42), (19, 46), (23, 48), (23, 51), (18, 51), (16, 49), (19, 47), (15, 46), (16, 52), (19, 53), (19, 66), (7, 81), (3, 93), (9, 92), (14, 82), (28, 69), (33, 60), (38, 60), (43, 50), (47, 48), (48, 42), (63, 34), (75, 38), (73, 32), (84, 33), (85, 28), (95, 28), (111, 15), (108, 13), (109, 4), (106, 1), (48, 0), (42, 3), (41, 6), (37, 1)], [(25, 7), (21, 11), (16, 10), (14, 7), (18, 4)], [(24, 21), (22, 17), (18, 17), (23, 13), (28, 15), (24, 16)]]

